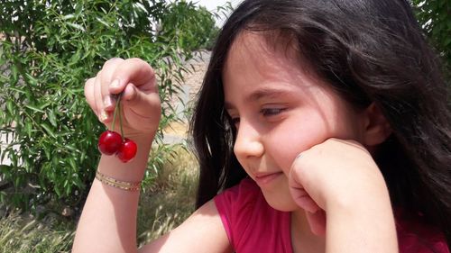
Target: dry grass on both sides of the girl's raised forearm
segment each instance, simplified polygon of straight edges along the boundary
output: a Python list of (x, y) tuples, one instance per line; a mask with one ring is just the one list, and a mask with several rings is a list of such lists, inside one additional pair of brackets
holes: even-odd
[[(143, 189), (138, 210), (138, 244), (141, 246), (172, 230), (194, 211), (198, 165), (180, 146), (152, 185)], [(75, 235), (74, 221), (46, 219), (11, 213), (0, 218), (0, 253), (70, 252)]]

